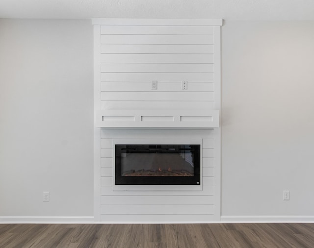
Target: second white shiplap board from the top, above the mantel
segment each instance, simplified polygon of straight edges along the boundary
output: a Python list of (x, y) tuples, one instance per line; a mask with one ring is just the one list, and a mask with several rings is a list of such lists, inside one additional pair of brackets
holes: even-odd
[(128, 35), (101, 36), (101, 44), (195, 44), (212, 45), (213, 35)]

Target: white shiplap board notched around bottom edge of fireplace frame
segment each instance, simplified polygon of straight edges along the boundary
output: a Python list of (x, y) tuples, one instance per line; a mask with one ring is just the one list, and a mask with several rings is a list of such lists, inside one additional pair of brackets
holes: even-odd
[(112, 186), (103, 186), (102, 196), (213, 196), (214, 187), (204, 186), (202, 191), (113, 191)]

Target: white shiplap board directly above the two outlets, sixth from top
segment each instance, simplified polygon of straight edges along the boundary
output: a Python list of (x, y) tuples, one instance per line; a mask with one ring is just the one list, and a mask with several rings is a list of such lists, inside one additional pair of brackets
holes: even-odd
[(101, 73), (102, 82), (213, 82), (213, 73)]

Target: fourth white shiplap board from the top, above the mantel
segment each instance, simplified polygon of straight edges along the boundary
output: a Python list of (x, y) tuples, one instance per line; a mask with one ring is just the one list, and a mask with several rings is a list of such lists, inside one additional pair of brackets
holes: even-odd
[(213, 63), (213, 54), (101, 54), (101, 63)]

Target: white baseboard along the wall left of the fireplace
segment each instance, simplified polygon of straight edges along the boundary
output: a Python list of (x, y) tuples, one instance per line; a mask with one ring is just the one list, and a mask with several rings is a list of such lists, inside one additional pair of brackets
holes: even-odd
[(95, 223), (94, 216), (0, 216), (0, 224), (8, 223)]

